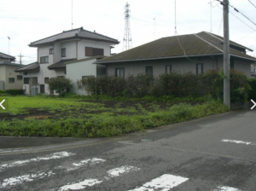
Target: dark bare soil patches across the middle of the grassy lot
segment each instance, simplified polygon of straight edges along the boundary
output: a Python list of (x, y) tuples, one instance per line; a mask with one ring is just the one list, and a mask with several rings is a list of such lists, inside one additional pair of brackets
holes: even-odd
[[(151, 101), (94, 101), (94, 100), (82, 100), (85, 102), (92, 102), (92, 103), (101, 103), (104, 104), (105, 108), (108, 108), (108, 110), (90, 110), (90, 109), (84, 109), (80, 108), (79, 110), (72, 110), (73, 114), (81, 114), (81, 113), (88, 113), (88, 114), (100, 114), (103, 112), (111, 112), (115, 115), (129, 115), (128, 108), (134, 107), (137, 110), (137, 113), (141, 113), (142, 109), (145, 109), (149, 112), (154, 112), (156, 108), (159, 108), (160, 110), (168, 109), (169, 107), (172, 107), (172, 105), (177, 103), (171, 103), (171, 102), (151, 102)], [(189, 102), (191, 105), (195, 105), (199, 102)], [(140, 106), (141, 105), (141, 106)], [(115, 108), (127, 108), (127, 110), (122, 110), (121, 112), (116, 111)], [(38, 110), (39, 109), (39, 110)], [(26, 118), (33, 118), (36, 117), (38, 119), (41, 119), (41, 117), (47, 117), (52, 119), (59, 119), (59, 118), (65, 118), (69, 116), (70, 113), (67, 113), (65, 111), (59, 112), (58, 110), (53, 113), (49, 110), (42, 110), (41, 108), (26, 108), (26, 113), (18, 113), (16, 115), (11, 115), (9, 113), (0, 113), (0, 120), (12, 120), (12, 119), (20, 119), (24, 120)]]

